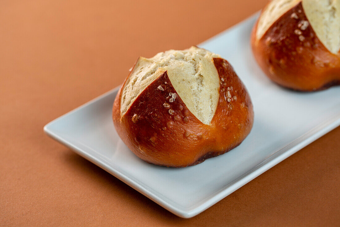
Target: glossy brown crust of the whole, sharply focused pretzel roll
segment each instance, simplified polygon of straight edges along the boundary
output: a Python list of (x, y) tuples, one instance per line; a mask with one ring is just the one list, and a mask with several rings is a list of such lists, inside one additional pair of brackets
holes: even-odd
[(169, 93), (176, 91), (167, 72), (143, 90), (123, 116), (119, 90), (113, 107), (114, 125), (139, 158), (168, 167), (195, 165), (233, 149), (250, 133), (253, 106), (248, 92), (226, 60), (214, 58), (214, 64), (220, 76), (220, 98), (210, 125), (198, 120), (181, 97), (169, 102)]

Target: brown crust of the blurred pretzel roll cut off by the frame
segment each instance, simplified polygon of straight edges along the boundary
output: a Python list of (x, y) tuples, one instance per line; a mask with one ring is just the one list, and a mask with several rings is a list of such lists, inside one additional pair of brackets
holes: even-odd
[[(296, 16), (295, 16), (296, 14)], [(259, 39), (257, 23), (251, 35), (256, 61), (277, 84), (299, 91), (316, 91), (340, 85), (340, 56), (320, 42), (300, 2), (283, 14)]]

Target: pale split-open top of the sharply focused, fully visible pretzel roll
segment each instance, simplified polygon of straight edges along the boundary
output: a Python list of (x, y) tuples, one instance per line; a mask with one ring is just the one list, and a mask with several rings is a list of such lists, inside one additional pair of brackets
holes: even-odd
[(160, 52), (152, 58), (140, 57), (123, 87), (121, 114), (124, 115), (138, 95), (167, 71), (177, 95), (191, 113), (202, 123), (210, 124), (217, 108), (220, 85), (213, 58), (219, 57), (194, 46)]

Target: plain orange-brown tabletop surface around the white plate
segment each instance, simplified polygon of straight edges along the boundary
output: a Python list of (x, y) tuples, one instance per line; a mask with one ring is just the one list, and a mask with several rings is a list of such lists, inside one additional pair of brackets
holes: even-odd
[(198, 44), (266, 2), (2, 0), (0, 225), (339, 224), (340, 127), (188, 220), (43, 133), (138, 56)]

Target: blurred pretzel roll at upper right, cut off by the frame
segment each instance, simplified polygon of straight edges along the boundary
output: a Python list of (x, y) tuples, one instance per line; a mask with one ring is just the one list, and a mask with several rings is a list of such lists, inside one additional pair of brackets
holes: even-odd
[(251, 37), (256, 61), (277, 84), (316, 91), (340, 84), (340, 0), (273, 0)]

